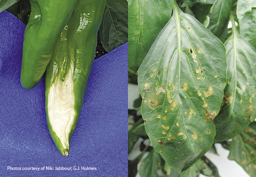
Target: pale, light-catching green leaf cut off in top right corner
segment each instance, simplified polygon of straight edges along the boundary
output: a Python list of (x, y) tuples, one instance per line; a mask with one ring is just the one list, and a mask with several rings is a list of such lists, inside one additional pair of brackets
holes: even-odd
[(256, 0), (238, 0), (237, 18), (240, 25), (240, 33), (245, 40), (256, 48)]

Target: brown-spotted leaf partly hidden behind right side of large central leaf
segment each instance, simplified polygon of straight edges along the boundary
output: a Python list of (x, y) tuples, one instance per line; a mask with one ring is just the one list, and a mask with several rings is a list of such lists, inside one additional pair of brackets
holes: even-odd
[(243, 39), (235, 28), (225, 42), (228, 63), (227, 81), (219, 115), (215, 118), (215, 142), (240, 134), (256, 117), (256, 50)]

